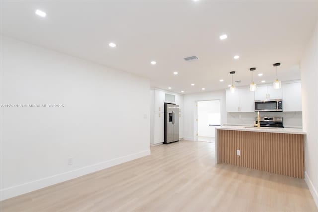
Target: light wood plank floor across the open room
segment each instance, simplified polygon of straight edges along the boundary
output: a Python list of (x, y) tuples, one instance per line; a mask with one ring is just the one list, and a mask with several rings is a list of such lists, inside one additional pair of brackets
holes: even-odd
[(1, 212), (317, 211), (302, 179), (214, 164), (214, 144), (151, 155), (1, 202)]

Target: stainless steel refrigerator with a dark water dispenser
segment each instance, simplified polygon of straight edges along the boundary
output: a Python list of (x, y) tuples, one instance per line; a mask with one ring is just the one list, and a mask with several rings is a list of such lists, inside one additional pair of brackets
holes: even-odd
[(179, 105), (164, 103), (164, 144), (179, 141)]

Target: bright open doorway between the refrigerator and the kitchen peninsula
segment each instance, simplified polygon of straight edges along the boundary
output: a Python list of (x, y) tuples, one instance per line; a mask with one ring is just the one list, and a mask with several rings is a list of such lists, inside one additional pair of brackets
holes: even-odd
[(197, 102), (197, 140), (215, 143), (215, 127), (221, 125), (220, 100)]

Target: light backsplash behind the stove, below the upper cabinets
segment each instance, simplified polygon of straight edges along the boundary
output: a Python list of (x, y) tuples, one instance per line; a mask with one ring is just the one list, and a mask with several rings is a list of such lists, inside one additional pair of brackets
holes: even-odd
[[(302, 128), (302, 112), (261, 112), (261, 117), (283, 117), (284, 127)], [(227, 124), (253, 125), (256, 112), (228, 112)]]

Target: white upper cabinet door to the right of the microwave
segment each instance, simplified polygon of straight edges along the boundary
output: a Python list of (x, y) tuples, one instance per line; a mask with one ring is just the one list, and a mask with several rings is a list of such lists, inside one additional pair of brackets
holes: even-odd
[(283, 111), (302, 111), (302, 88), (301, 83), (289, 83), (282, 85)]

